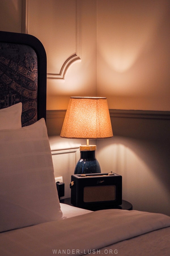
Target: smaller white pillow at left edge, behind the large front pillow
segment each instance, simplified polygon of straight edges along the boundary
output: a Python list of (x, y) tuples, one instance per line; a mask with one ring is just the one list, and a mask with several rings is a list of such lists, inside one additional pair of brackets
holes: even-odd
[(21, 127), (22, 103), (0, 109), (0, 130)]

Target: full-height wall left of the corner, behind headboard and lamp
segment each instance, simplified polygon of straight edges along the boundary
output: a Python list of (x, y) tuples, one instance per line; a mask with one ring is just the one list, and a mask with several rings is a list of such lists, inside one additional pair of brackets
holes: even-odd
[[(63, 176), (65, 197), (70, 196), (71, 174), (84, 141), (59, 137), (65, 113), (61, 110), (67, 109), (70, 96), (97, 93), (96, 11), (96, 1), (91, 0), (10, 0), (7, 5), (0, 1), (0, 30), (32, 34), (46, 49), (47, 128), (54, 173)], [(8, 16), (14, 20), (8, 22)]]

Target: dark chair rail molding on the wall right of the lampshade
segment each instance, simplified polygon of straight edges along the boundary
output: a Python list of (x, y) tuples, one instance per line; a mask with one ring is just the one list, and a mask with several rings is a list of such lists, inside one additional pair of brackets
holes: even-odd
[(110, 117), (167, 120), (170, 119), (170, 111), (110, 109), (109, 113)]

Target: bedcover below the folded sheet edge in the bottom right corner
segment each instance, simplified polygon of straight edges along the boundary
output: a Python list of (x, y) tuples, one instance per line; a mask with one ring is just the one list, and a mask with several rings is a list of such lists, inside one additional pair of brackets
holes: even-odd
[[(169, 256), (170, 227), (152, 231), (135, 238), (120, 241), (98, 250), (100, 255)], [(97, 252), (96, 252), (97, 254)], [(88, 255), (94, 255), (93, 251)]]

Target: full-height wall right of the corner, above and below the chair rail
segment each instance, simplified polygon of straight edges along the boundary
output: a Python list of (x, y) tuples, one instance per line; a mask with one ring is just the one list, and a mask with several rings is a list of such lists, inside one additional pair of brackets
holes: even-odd
[(97, 0), (97, 94), (110, 109), (165, 111), (133, 118), (115, 110), (114, 137), (97, 141), (97, 158), (102, 172), (122, 175), (123, 199), (134, 209), (168, 215), (169, 3)]

